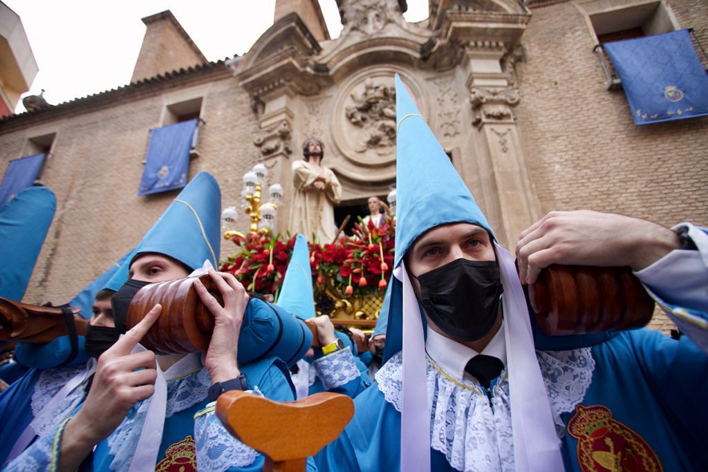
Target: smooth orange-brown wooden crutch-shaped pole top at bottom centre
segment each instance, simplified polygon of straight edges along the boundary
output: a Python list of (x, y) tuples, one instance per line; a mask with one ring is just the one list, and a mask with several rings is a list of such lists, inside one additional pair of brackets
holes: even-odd
[(264, 472), (302, 472), (344, 430), (354, 402), (330, 392), (277, 402), (234, 390), (219, 396), (216, 411), (234, 437), (265, 456)]

